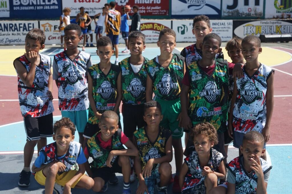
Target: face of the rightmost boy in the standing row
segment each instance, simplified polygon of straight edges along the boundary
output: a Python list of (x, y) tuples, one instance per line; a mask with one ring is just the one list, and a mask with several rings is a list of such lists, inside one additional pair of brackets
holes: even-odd
[(258, 59), (258, 54), (262, 52), (262, 48), (258, 47), (255, 42), (244, 42), (241, 44), (242, 54), (246, 63), (251, 63)]

